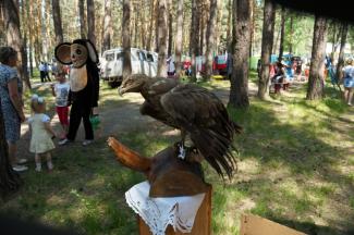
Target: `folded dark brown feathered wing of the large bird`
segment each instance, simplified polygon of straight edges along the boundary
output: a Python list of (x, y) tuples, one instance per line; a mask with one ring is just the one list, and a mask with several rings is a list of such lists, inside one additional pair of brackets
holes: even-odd
[(191, 134), (198, 151), (220, 174), (231, 177), (235, 158), (232, 141), (241, 127), (235, 124), (219, 98), (207, 89), (180, 84), (161, 97), (161, 106), (178, 126)]

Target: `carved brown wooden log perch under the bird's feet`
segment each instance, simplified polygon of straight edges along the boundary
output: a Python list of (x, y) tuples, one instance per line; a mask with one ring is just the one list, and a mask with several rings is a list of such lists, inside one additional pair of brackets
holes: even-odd
[(146, 174), (150, 183), (150, 197), (192, 196), (208, 189), (200, 163), (179, 159), (176, 146), (170, 146), (148, 159), (113, 137), (109, 137), (107, 141), (119, 162)]

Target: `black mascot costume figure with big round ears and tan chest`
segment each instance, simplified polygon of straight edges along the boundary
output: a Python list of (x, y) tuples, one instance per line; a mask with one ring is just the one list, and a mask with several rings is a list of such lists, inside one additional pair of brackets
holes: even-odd
[(83, 145), (88, 145), (94, 140), (94, 131), (89, 116), (93, 109), (98, 106), (99, 95), (99, 70), (96, 48), (88, 39), (76, 39), (72, 44), (63, 42), (58, 45), (54, 54), (60, 63), (71, 65), (69, 104), (72, 107), (69, 133), (65, 139), (59, 141), (59, 145), (75, 140), (82, 119), (85, 127)]

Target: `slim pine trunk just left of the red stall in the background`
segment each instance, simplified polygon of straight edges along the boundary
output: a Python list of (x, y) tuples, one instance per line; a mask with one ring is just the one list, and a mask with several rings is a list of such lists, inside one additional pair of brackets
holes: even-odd
[(206, 51), (206, 78), (210, 79), (210, 76), (212, 75), (212, 46), (213, 46), (213, 34), (215, 34), (215, 20), (217, 15), (217, 10), (218, 10), (218, 0), (210, 0), (210, 15), (209, 15), (209, 21), (207, 25), (207, 51)]

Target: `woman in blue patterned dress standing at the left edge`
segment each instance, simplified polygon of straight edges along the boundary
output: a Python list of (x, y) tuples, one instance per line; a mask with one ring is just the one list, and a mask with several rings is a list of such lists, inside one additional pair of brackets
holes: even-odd
[(26, 159), (16, 158), (16, 143), (21, 137), (21, 123), (26, 118), (23, 112), (22, 82), (15, 69), (17, 51), (11, 47), (0, 47), (0, 100), (5, 138), (9, 147), (9, 159), (12, 169), (17, 172), (27, 170)]

